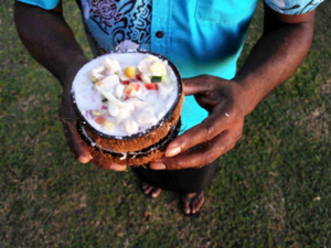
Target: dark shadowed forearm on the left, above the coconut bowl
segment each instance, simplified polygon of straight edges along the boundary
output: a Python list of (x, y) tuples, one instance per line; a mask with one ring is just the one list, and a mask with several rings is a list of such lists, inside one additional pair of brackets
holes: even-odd
[(52, 12), (15, 2), (14, 21), (24, 46), (63, 87), (87, 62), (62, 11)]

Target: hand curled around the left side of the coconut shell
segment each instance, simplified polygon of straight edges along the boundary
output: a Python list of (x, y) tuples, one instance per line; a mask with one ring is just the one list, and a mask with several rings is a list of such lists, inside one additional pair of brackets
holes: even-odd
[(62, 103), (58, 111), (58, 117), (64, 128), (64, 134), (72, 152), (81, 163), (93, 162), (106, 170), (125, 171), (127, 168), (126, 165), (115, 164), (105, 159), (100, 152), (89, 149), (79, 136), (76, 129), (76, 115), (71, 97), (71, 87), (76, 72), (68, 76), (66, 83), (63, 84)]

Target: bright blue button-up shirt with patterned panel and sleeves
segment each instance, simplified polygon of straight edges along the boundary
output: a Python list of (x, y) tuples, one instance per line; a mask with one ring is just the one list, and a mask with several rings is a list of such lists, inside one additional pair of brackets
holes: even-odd
[[(58, 0), (20, 0), (53, 9)], [(143, 48), (172, 61), (182, 77), (210, 74), (234, 77), (248, 25), (258, 0), (81, 0), (85, 31), (95, 55)], [(321, 0), (266, 0), (274, 10), (300, 14)], [(207, 112), (186, 96), (183, 128)]]

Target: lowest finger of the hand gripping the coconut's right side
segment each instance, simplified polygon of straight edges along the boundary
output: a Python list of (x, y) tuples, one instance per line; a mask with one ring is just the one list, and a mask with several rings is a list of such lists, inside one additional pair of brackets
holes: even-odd
[[(213, 140), (205, 142), (197, 150), (189, 150), (174, 158), (162, 158), (150, 164), (153, 170), (181, 170), (201, 168), (215, 161), (218, 157), (234, 148), (236, 139), (231, 138), (227, 131), (222, 132)], [(163, 168), (160, 166), (163, 164)]]

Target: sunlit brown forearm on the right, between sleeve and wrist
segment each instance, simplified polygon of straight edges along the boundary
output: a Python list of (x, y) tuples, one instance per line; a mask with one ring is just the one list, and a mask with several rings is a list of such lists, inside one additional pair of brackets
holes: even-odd
[(263, 36), (234, 78), (244, 88), (246, 114), (295, 73), (309, 51), (312, 35), (313, 15), (299, 23), (266, 21)]

